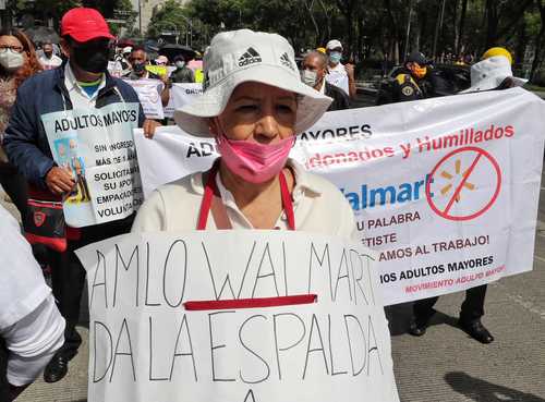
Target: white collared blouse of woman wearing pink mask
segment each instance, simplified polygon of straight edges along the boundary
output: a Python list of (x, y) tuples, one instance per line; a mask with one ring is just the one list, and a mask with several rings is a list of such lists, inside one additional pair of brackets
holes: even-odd
[[(354, 215), (341, 192), (326, 179), (306, 172), (291, 159), (288, 160), (288, 166), (295, 175), (295, 187), (292, 192), (295, 229), (352, 239), (355, 233)], [(216, 181), (232, 228), (253, 229), (234, 203), (232, 194), (221, 183), (219, 174)], [(202, 173), (194, 173), (162, 185), (144, 202), (136, 215), (132, 231), (195, 230), (203, 195)], [(288, 229), (284, 212), (278, 218), (276, 228)], [(216, 229), (211, 215), (206, 229)]]

